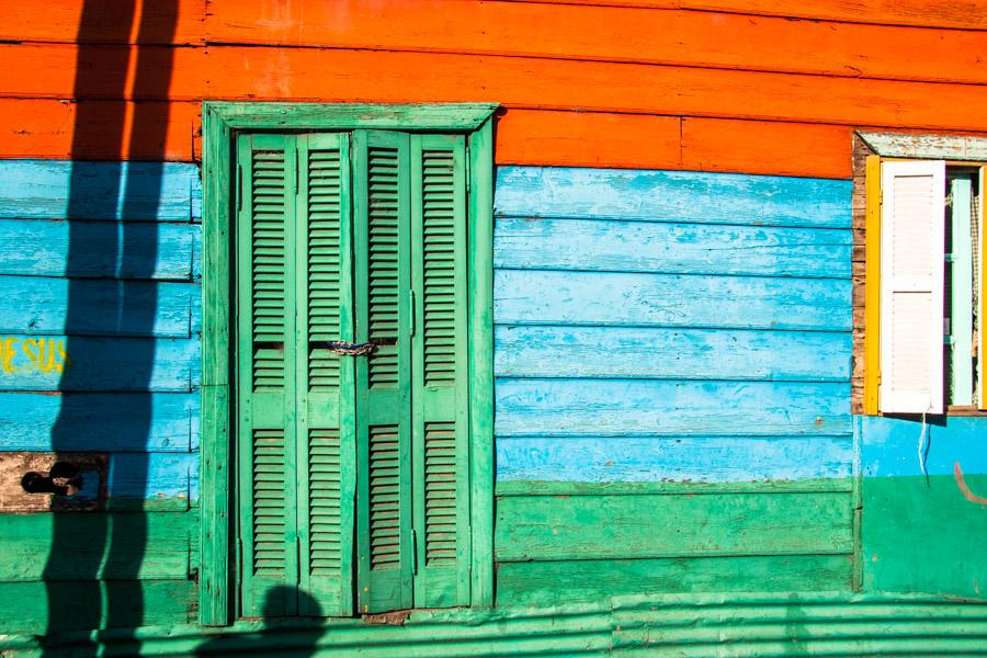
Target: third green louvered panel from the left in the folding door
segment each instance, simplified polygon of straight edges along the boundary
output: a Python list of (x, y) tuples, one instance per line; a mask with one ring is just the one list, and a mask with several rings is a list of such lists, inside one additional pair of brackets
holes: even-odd
[(410, 177), (409, 136), (356, 131), (354, 252), (356, 342), (358, 605), (410, 608)]

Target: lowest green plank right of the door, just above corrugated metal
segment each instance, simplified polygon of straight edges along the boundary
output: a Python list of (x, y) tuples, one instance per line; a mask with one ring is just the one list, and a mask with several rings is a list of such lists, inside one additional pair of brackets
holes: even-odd
[(497, 604), (547, 606), (640, 592), (847, 590), (850, 567), (848, 555), (502, 563)]

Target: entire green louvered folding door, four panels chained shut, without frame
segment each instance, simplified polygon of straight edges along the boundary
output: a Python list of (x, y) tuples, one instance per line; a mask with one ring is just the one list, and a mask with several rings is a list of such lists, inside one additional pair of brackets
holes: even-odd
[(243, 615), (468, 604), (465, 138), (237, 146)]

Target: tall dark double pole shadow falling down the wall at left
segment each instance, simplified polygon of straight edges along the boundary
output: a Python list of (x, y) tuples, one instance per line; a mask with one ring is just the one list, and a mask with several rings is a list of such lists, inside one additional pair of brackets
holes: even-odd
[[(71, 367), (67, 367), (59, 388), (61, 405), (52, 432), (56, 453), (79, 451), (78, 436), (99, 431), (92, 398), (111, 398), (101, 408), (125, 412), (131, 422), (112, 438), (112, 444), (99, 450), (123, 455), (110, 468), (110, 492), (141, 492), (148, 486), (148, 436), (151, 431), (151, 373), (155, 361), (157, 290), (155, 275), (158, 245), (154, 230), (139, 229), (139, 222), (152, 219), (158, 212), (168, 125), (168, 97), (171, 81), (178, 0), (84, 0), (77, 34), (78, 55), (73, 97), (78, 101), (72, 134), (71, 158), (76, 164), (69, 181), (67, 216), (69, 251), (67, 307), (65, 310), (66, 353), (73, 353), (73, 337), (92, 326), (93, 297), (102, 308), (116, 308), (113, 336), (135, 336), (143, 340), (128, 350), (128, 367), (136, 382), (134, 392), (79, 392)], [(135, 30), (135, 21), (137, 21)], [(138, 46), (127, 46), (131, 35)], [(129, 98), (158, 99), (128, 103)], [(139, 146), (139, 157), (148, 160), (128, 167), (126, 160)], [(78, 164), (92, 157), (88, 151), (120, 152), (120, 159), (97, 167)], [(124, 149), (128, 149), (125, 151)], [(112, 156), (111, 156), (112, 157)], [(100, 193), (94, 194), (94, 175)], [(118, 219), (120, 223), (110, 222)], [(91, 223), (90, 220), (102, 220)], [(126, 263), (126, 280), (97, 282), (82, 279), (90, 271), (84, 245), (92, 245), (95, 231), (101, 251)], [(90, 252), (91, 253), (91, 252)], [(120, 269), (118, 269), (120, 270)], [(98, 292), (94, 292), (98, 291)], [(106, 298), (109, 297), (109, 298)], [(105, 324), (105, 318), (104, 322)], [(79, 347), (82, 349), (82, 345)], [(81, 375), (81, 373), (80, 373)], [(86, 376), (86, 379), (91, 377)], [(105, 400), (106, 397), (103, 399)], [(97, 426), (97, 427), (93, 427)], [(106, 441), (110, 441), (107, 438)], [(147, 548), (147, 511), (144, 500), (110, 500), (111, 510), (93, 513), (54, 512), (50, 553), (44, 580), (47, 593), (47, 636), (67, 629), (139, 626), (146, 619), (148, 602), (139, 580)], [(78, 529), (84, 527), (86, 546), (80, 546)], [(73, 655), (95, 655), (97, 646), (76, 645)]]

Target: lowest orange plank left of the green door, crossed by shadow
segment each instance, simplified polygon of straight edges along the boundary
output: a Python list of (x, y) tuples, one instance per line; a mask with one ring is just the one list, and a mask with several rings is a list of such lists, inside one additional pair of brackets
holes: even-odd
[(201, 124), (198, 103), (0, 99), (0, 159), (191, 161)]

